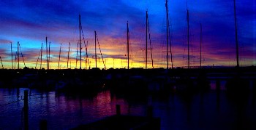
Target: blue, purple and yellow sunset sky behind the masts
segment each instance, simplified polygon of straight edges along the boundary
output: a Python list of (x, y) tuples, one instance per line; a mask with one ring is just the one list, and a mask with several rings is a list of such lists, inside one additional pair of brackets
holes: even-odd
[[(50, 42), (50, 68), (58, 68), (60, 44), (62, 44), (61, 68), (67, 68), (69, 42), (71, 68), (75, 68), (79, 41), (79, 14), (83, 28), (82, 68), (89, 68), (85, 63), (84, 42), (87, 41), (91, 68), (95, 67), (94, 31), (97, 31), (106, 68), (127, 68), (127, 21), (130, 68), (145, 68), (146, 56), (143, 49), (146, 48), (147, 9), (154, 68), (166, 68), (165, 0), (1, 0), (0, 56), (4, 68), (12, 68), (11, 42), (13, 59), (15, 59), (18, 41), (26, 67), (29, 68), (36, 67), (43, 43), (42, 67), (46, 68), (46, 36)], [(200, 65), (201, 23), (203, 65), (236, 66), (233, 0), (169, 0), (168, 9), (174, 67), (187, 67), (187, 9), (189, 10), (190, 65)], [(256, 65), (255, 9), (256, 1), (236, 0), (241, 66)], [(150, 46), (149, 42), (148, 46)], [(97, 67), (103, 68), (98, 45), (97, 57), (100, 57)], [(23, 67), (20, 58), (20, 68)], [(150, 50), (148, 50), (148, 68), (152, 68)]]

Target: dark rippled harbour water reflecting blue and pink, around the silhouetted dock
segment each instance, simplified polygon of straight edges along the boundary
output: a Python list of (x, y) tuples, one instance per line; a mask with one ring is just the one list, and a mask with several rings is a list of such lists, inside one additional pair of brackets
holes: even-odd
[[(223, 83), (222, 83), (223, 84)], [(152, 105), (161, 118), (161, 129), (256, 129), (256, 99), (230, 99), (222, 91), (195, 94), (125, 96), (110, 91), (97, 94), (67, 95), (38, 92), (35, 89), (0, 89), (0, 129), (23, 129), (23, 91), (29, 90), (29, 129), (39, 129), (47, 120), (48, 129), (71, 129), (116, 113), (146, 115)], [(239, 95), (238, 95), (239, 97)], [(18, 101), (18, 102), (15, 102)], [(12, 102), (12, 103), (10, 103)], [(10, 104), (8, 104), (10, 103)]]

